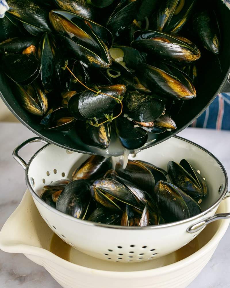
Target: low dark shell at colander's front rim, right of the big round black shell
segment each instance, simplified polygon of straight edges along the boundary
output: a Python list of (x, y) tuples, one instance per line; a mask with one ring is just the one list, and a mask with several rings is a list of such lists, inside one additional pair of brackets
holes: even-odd
[(121, 215), (101, 206), (97, 207), (87, 220), (108, 225), (120, 225)]

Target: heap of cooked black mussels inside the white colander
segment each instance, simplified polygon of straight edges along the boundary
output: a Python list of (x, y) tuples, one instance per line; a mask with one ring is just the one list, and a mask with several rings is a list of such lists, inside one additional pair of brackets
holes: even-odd
[[(202, 212), (205, 178), (187, 160), (168, 162), (168, 172), (141, 160), (91, 156), (72, 174), (45, 185), (41, 198), (75, 218), (121, 226), (175, 222)], [(168, 181), (167, 175), (171, 180)]]

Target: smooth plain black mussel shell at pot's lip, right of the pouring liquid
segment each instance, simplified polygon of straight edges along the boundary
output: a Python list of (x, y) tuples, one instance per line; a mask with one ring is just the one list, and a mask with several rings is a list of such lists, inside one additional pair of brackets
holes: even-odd
[(116, 118), (115, 126), (118, 138), (126, 149), (140, 148), (148, 140), (147, 132), (140, 127), (134, 127), (133, 121), (129, 121), (126, 117)]

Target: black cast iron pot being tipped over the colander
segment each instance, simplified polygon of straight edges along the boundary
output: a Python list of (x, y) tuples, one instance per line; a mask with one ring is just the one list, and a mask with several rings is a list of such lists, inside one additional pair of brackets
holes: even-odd
[[(150, 142), (142, 149), (156, 145), (174, 136), (195, 121), (219, 93), (230, 92), (230, 10), (221, 0), (212, 1), (212, 5), (214, 6), (221, 31), (220, 54), (218, 56), (213, 56), (209, 54), (209, 52), (203, 52), (202, 61), (198, 64), (197, 96), (194, 100), (184, 101), (180, 113), (173, 115), (173, 118), (177, 123), (177, 129), (172, 132), (167, 131), (162, 134), (156, 134), (156, 140)], [(76, 132), (44, 130), (44, 126), (39, 124), (37, 118), (27, 113), (20, 106), (7, 83), (5, 75), (0, 73), (1, 98), (18, 120), (31, 131), (45, 139), (47, 142), (60, 147), (86, 154), (100, 154), (99, 149), (85, 145), (77, 136)], [(117, 147), (114, 147), (114, 141), (112, 140), (109, 153), (122, 154), (122, 150), (118, 150)]]

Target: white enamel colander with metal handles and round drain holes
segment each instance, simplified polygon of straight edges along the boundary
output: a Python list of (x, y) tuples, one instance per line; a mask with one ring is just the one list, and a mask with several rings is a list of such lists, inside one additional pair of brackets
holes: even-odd
[[(230, 213), (216, 214), (227, 194), (227, 174), (222, 164), (207, 150), (180, 137), (173, 137), (156, 146), (142, 150), (135, 156), (167, 170), (169, 160), (180, 162), (185, 158), (205, 177), (209, 195), (202, 201), (202, 213), (183, 221), (147, 227), (124, 227), (76, 219), (46, 204), (39, 196), (44, 183), (71, 177), (72, 172), (89, 155), (68, 151), (46, 144), (28, 164), (18, 152), (29, 143), (41, 141), (32, 138), (19, 145), (14, 158), (26, 170), (26, 184), (39, 213), (47, 225), (72, 247), (90, 256), (114, 262), (141, 262), (158, 258), (183, 247), (196, 237), (210, 222), (230, 218)], [(45, 143), (45, 142), (44, 142)], [(132, 158), (132, 155), (129, 156)]]

